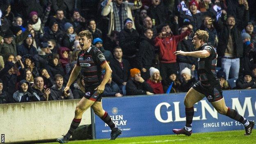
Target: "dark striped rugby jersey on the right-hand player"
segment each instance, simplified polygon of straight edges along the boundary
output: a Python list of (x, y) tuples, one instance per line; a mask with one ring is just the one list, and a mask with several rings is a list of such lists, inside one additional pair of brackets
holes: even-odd
[(203, 44), (199, 50), (207, 50), (208, 52), (210, 52), (209, 57), (198, 58), (199, 80), (204, 86), (210, 86), (211, 83), (218, 80), (216, 74), (218, 55), (215, 48), (208, 45), (207, 43)]

